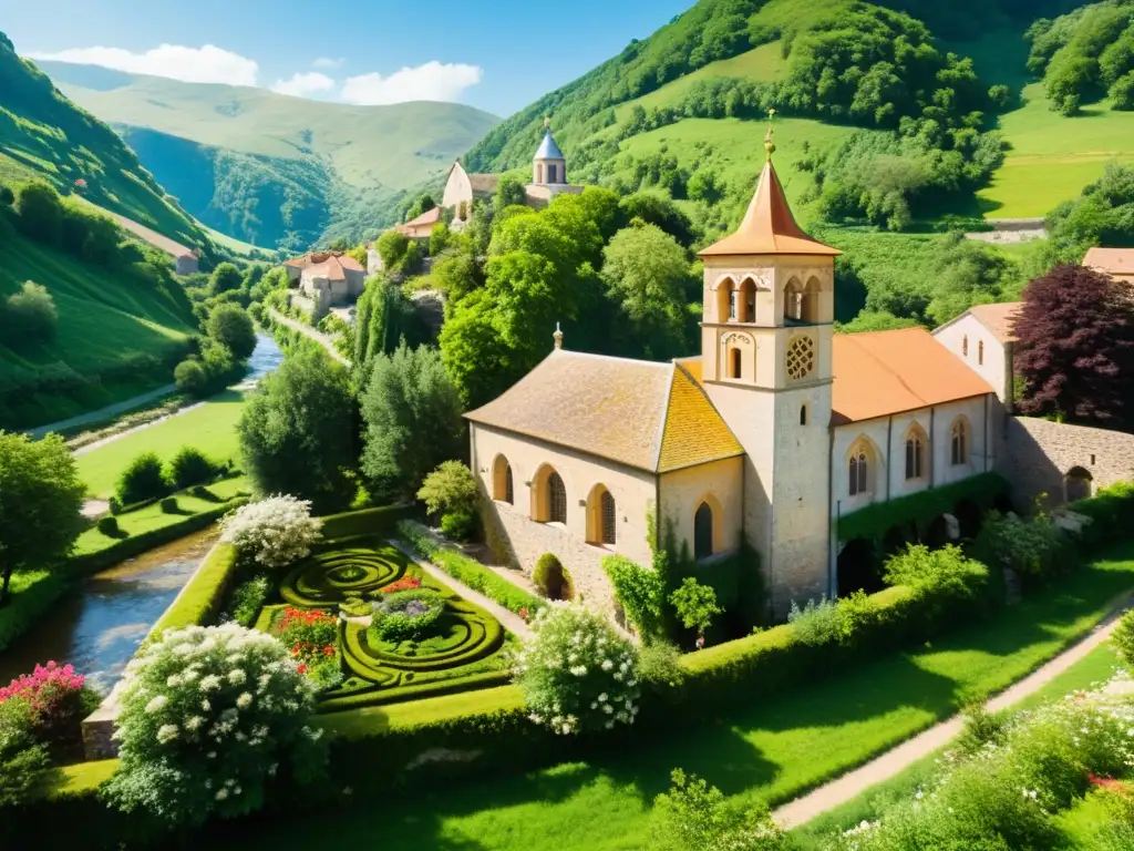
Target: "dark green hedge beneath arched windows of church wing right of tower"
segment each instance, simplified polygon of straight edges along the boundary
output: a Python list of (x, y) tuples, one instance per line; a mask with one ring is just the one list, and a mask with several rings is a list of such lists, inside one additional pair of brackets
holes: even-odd
[(971, 499), (982, 509), (993, 506), (997, 498), (1009, 491), (1008, 480), (999, 473), (981, 473), (951, 485), (921, 490), (888, 503), (871, 503), (838, 521), (840, 541), (855, 538), (881, 540), (895, 525), (915, 523), (925, 534), (930, 524), (942, 514), (953, 514), (957, 503)]

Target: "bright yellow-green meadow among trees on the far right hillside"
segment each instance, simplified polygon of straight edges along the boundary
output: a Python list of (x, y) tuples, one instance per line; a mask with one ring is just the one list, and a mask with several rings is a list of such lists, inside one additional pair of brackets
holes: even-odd
[(1108, 162), (1134, 162), (1134, 113), (1093, 103), (1083, 115), (1065, 118), (1048, 107), (1040, 83), (1025, 86), (1023, 99), (1023, 107), (1000, 118), (1012, 150), (979, 194), (987, 216), (1046, 216), (1077, 197)]

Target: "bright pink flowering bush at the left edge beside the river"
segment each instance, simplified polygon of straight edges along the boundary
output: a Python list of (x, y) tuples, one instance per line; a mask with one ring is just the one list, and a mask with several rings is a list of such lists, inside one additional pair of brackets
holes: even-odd
[(0, 689), (0, 703), (26, 700), (31, 711), (29, 733), (52, 748), (75, 745), (81, 741), (79, 725), (99, 706), (98, 693), (85, 684), (71, 665), (36, 665), (31, 674), (12, 680)]

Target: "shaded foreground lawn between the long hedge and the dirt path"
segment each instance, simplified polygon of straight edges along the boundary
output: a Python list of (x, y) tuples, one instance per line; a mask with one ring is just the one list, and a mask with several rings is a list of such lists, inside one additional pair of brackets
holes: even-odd
[(373, 803), (361, 802), (295, 821), (231, 826), (227, 839), (242, 849), (305, 848), (329, 833), (348, 843), (380, 836), (384, 849), (638, 849), (649, 834), (651, 801), (675, 767), (728, 795), (784, 802), (1018, 680), (1134, 587), (1134, 544), (1112, 556), (1125, 561), (1101, 561), (932, 646), (754, 700), (730, 718), (683, 726), (675, 715), (669, 738), (643, 739), (633, 752), (387, 801), (380, 828)]

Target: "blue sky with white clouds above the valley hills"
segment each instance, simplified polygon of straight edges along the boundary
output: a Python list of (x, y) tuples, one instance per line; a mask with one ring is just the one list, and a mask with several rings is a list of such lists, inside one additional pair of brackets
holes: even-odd
[(0, 0), (0, 30), (25, 56), (356, 103), (454, 100), (508, 116), (693, 2)]

